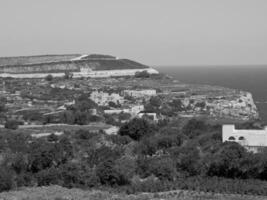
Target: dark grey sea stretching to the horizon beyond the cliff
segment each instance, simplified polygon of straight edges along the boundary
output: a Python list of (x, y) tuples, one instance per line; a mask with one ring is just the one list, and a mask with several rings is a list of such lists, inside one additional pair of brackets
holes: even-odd
[(159, 72), (192, 84), (219, 85), (251, 92), (267, 124), (267, 66), (158, 66)]

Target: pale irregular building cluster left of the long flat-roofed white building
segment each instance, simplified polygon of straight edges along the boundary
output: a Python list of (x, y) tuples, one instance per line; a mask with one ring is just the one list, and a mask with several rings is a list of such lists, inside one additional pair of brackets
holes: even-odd
[(103, 91), (93, 91), (90, 95), (90, 99), (101, 106), (108, 105), (109, 102), (114, 102), (115, 104), (121, 104), (124, 102), (124, 98), (117, 93), (107, 93)]

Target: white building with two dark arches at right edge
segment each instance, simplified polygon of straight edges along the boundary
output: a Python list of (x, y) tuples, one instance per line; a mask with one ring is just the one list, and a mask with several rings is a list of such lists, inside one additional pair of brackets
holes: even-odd
[(267, 147), (267, 127), (262, 130), (235, 129), (235, 125), (223, 125), (223, 142), (237, 142), (249, 151), (257, 152), (261, 147)]

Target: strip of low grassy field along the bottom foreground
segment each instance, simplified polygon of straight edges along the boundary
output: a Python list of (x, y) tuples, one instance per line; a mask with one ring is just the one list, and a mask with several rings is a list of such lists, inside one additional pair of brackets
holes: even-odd
[(213, 194), (175, 190), (161, 193), (127, 195), (99, 190), (67, 189), (60, 186), (24, 188), (0, 193), (4, 200), (264, 200), (264, 196)]

